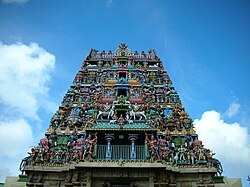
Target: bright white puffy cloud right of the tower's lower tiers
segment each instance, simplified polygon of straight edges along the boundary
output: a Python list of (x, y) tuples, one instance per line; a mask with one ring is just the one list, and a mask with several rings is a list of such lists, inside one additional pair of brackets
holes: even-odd
[(204, 112), (194, 120), (199, 139), (212, 149), (227, 173), (234, 177), (247, 175), (250, 168), (250, 135), (239, 123), (226, 123), (216, 111)]

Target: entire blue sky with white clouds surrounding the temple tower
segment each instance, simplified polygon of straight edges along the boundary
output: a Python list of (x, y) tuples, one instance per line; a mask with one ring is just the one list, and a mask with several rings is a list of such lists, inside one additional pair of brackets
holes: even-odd
[(154, 48), (224, 175), (250, 175), (250, 1), (0, 0), (0, 181), (43, 137), (90, 48)]

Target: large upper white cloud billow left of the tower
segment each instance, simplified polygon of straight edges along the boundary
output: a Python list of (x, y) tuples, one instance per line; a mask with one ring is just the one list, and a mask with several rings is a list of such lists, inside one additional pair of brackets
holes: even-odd
[(36, 43), (1, 42), (0, 56), (0, 104), (20, 116), (38, 119), (38, 100), (47, 96), (55, 56)]

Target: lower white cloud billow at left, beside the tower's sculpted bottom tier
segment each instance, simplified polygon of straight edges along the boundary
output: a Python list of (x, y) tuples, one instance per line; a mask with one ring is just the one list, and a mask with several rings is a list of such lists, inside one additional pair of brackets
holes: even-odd
[(4, 182), (6, 176), (20, 174), (19, 164), (35, 144), (31, 126), (24, 119), (1, 121), (0, 140), (0, 182)]

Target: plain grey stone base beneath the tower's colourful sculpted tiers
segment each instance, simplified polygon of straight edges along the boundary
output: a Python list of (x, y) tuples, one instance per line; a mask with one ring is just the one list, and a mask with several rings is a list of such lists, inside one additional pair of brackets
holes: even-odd
[(166, 163), (80, 162), (54, 167), (26, 166), (25, 172), (27, 186), (34, 187), (226, 187), (225, 183), (214, 182), (215, 168)]

